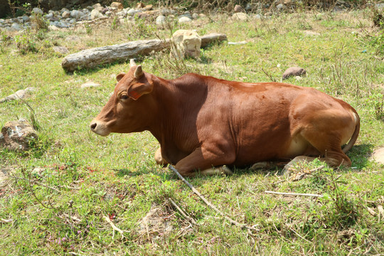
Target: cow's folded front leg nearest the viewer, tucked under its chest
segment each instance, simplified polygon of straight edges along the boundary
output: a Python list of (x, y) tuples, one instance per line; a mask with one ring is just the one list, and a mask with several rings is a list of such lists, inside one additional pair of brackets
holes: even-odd
[[(191, 154), (178, 161), (175, 168), (182, 176), (195, 176), (200, 170), (202, 175), (233, 174), (225, 164), (232, 164), (235, 154), (220, 149), (204, 149), (199, 147)], [(215, 166), (218, 166), (215, 168)]]

